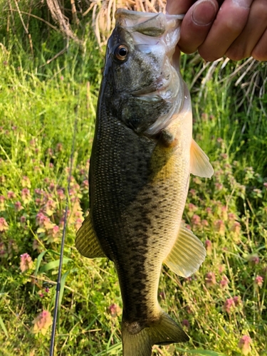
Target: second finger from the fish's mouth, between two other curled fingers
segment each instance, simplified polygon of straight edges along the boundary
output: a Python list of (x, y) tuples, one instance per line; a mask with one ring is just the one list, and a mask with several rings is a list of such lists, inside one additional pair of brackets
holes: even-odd
[(199, 54), (206, 61), (224, 56), (231, 44), (241, 34), (253, 0), (225, 0), (216, 16)]

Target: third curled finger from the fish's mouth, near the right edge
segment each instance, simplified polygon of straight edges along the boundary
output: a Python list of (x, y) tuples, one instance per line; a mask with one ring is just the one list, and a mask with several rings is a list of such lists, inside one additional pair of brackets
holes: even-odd
[[(253, 48), (260, 41), (267, 28), (267, 4), (266, 0), (254, 0), (248, 21), (241, 35), (231, 44), (226, 51), (226, 56), (239, 61), (251, 56)], [(265, 47), (266, 48), (266, 47)]]

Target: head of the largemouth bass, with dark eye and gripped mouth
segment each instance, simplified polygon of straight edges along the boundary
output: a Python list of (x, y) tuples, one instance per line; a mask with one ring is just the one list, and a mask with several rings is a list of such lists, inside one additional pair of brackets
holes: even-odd
[(175, 51), (182, 17), (116, 11), (103, 92), (115, 117), (137, 133), (157, 135), (182, 106), (184, 85)]

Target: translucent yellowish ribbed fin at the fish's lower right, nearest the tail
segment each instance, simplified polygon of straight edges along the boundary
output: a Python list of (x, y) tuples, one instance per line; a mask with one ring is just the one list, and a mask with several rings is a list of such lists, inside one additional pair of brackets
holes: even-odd
[(206, 257), (206, 249), (192, 231), (180, 227), (177, 240), (164, 263), (174, 273), (182, 277), (189, 277), (199, 269)]

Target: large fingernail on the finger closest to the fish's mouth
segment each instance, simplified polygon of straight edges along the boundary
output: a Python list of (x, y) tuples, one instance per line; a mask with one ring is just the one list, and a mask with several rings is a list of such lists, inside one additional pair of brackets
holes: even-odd
[(192, 21), (197, 25), (205, 26), (211, 23), (217, 13), (217, 8), (211, 0), (204, 0), (194, 6)]

